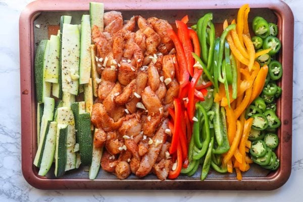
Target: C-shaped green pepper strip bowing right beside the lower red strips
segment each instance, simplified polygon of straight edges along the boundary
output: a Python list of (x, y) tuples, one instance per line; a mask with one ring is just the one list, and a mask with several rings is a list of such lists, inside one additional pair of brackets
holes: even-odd
[(193, 160), (198, 160), (205, 155), (208, 145), (210, 143), (210, 139), (211, 139), (211, 131), (210, 131), (210, 125), (209, 125), (209, 119), (208, 119), (207, 113), (199, 103), (196, 103), (196, 109), (198, 111), (201, 111), (204, 116), (203, 129), (205, 130), (206, 138), (204, 139), (200, 150), (198, 150), (198, 148), (194, 146), (193, 153), (192, 153)]

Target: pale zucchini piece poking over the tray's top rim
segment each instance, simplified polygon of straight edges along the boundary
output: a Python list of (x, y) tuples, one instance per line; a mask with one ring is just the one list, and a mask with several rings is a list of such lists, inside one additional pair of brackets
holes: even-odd
[(91, 28), (96, 25), (100, 32), (103, 32), (104, 29), (104, 4), (97, 2), (89, 3), (89, 16), (90, 16), (90, 26)]

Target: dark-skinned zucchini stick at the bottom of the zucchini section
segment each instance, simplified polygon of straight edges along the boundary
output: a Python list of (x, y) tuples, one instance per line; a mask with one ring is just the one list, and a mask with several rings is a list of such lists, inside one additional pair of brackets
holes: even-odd
[(55, 152), (55, 176), (61, 177), (65, 172), (66, 166), (66, 139), (67, 139), (67, 124), (58, 124), (56, 137), (56, 152)]

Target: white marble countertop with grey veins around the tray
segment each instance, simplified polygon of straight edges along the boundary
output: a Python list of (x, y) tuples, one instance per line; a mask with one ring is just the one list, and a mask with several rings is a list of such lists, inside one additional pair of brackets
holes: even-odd
[[(294, 14), (292, 172), (273, 191), (39, 190), (21, 172), (20, 72), (18, 21), (32, 0), (0, 0), (0, 201), (302, 201), (303, 191), (303, 2), (285, 0)], [(301, 79), (300, 79), (301, 78)], [(301, 94), (302, 93), (302, 94)], [(301, 120), (301, 121), (300, 121)]]

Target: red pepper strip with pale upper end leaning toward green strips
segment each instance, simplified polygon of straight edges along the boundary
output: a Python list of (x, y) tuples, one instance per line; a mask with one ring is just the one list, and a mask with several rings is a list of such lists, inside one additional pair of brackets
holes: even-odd
[(190, 81), (190, 86), (188, 90), (188, 104), (187, 104), (187, 113), (188, 113), (188, 118), (191, 122), (192, 118), (194, 116), (194, 111), (195, 111), (195, 103), (194, 103), (194, 89), (195, 85), (197, 84), (203, 70), (198, 70), (197, 72), (194, 73), (193, 77), (191, 78)]

